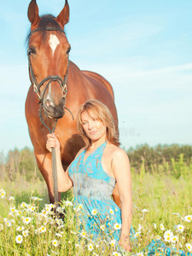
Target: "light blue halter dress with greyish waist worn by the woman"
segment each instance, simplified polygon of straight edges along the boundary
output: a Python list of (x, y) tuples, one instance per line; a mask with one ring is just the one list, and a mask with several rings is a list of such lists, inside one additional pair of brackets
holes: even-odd
[[(84, 160), (85, 150), (73, 161), (68, 173), (73, 180), (74, 205), (82, 206), (81, 221), (92, 240), (119, 241), (121, 211), (112, 199), (115, 179), (102, 168), (102, 154), (107, 143)], [(130, 236), (134, 236), (131, 228)]]

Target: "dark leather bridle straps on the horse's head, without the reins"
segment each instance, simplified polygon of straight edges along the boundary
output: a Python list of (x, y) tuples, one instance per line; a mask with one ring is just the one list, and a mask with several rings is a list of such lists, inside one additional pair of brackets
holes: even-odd
[[(46, 29), (37, 28), (37, 29), (33, 30), (30, 33), (30, 38), (32, 37), (32, 34), (34, 32), (40, 32), (40, 31), (59, 31), (59, 32), (65, 33), (63, 30), (56, 29), (56, 28), (53, 28), (53, 27), (46, 27)], [(28, 56), (29, 72), (31, 74), (33, 90), (37, 93), (39, 102), (43, 102), (45, 91), (47, 90), (49, 84), (52, 81), (56, 81), (56, 82), (58, 82), (58, 84), (60, 84), (61, 90), (63, 92), (63, 97), (66, 97), (67, 96), (67, 74), (68, 74), (69, 60), (67, 62), (67, 73), (66, 73), (64, 79), (61, 79), (61, 77), (58, 76), (58, 75), (50, 75), (50, 76), (46, 77), (45, 79), (43, 79), (38, 84), (37, 79), (36, 79), (35, 74), (34, 74), (33, 69), (32, 69), (32, 61), (31, 61), (31, 58), (30, 58), (30, 54), (31, 54), (31, 49), (28, 48), (27, 49), (27, 56)], [(42, 96), (40, 96), (40, 88), (47, 81), (49, 81), (49, 82), (48, 82), (48, 84), (46, 85), (46, 87), (44, 89), (44, 93), (43, 93)]]

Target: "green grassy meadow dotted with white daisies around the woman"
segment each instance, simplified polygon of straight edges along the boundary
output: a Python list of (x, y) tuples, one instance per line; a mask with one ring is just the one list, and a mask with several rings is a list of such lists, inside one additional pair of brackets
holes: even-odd
[[(143, 163), (139, 172), (131, 169), (131, 177), (137, 243), (127, 255), (144, 255), (143, 249), (153, 240), (165, 242), (175, 252), (192, 253), (192, 162), (187, 166), (182, 159), (172, 161), (172, 166), (165, 163), (150, 173)], [(106, 243), (101, 236), (92, 242), (84, 230), (79, 240), (77, 212), (81, 214), (82, 206), (73, 208), (73, 190), (62, 195), (59, 211), (66, 212), (65, 218), (55, 217), (53, 207), (45, 183), (37, 177), (32, 182), (25, 177), (1, 180), (0, 255), (121, 255), (116, 241)], [(95, 209), (92, 214), (96, 213)]]

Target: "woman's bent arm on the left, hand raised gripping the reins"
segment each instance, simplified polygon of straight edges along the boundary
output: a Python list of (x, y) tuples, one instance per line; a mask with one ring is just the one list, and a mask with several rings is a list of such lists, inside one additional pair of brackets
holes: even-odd
[(68, 168), (65, 172), (61, 163), (60, 142), (54, 133), (48, 134), (47, 137), (46, 148), (49, 152), (51, 152), (51, 148), (55, 148), (58, 191), (65, 192), (73, 187), (73, 182), (68, 175)]

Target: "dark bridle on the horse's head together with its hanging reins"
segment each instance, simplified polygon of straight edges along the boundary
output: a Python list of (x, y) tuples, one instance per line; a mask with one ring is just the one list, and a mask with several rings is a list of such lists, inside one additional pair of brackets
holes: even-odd
[[(63, 32), (65, 33), (63, 30), (61, 30), (60, 28), (54, 28), (54, 27), (46, 27), (45, 29), (41, 29), (41, 28), (37, 28), (35, 30), (33, 30), (31, 33), (30, 33), (30, 36), (29, 36), (29, 39), (32, 37), (32, 34), (35, 33), (35, 32), (44, 32), (44, 31), (59, 31), (59, 32)], [(61, 87), (61, 90), (63, 92), (63, 97), (65, 98), (67, 96), (67, 74), (68, 74), (68, 67), (69, 67), (69, 59), (67, 61), (67, 72), (65, 74), (65, 77), (64, 79), (61, 79), (60, 76), (58, 75), (50, 75), (48, 77), (46, 77), (45, 79), (43, 79), (39, 84), (37, 82), (37, 79), (35, 77), (35, 74), (33, 72), (33, 69), (32, 69), (32, 61), (31, 61), (31, 58), (30, 58), (30, 54), (31, 54), (31, 49), (27, 49), (27, 56), (28, 56), (28, 67), (29, 67), (29, 72), (31, 74), (31, 79), (32, 79), (32, 86), (33, 86), (33, 90), (37, 93), (38, 95), (38, 100), (39, 100), (39, 117), (40, 117), (40, 120), (42, 122), (42, 124), (49, 130), (49, 133), (52, 133), (55, 131), (55, 125), (57, 123), (57, 120), (58, 119), (55, 119), (55, 125), (52, 129), (52, 131), (49, 129), (49, 126), (46, 125), (44, 123), (44, 119), (42, 117), (42, 107), (43, 107), (43, 102), (44, 102), (44, 94), (45, 94), (45, 91), (47, 90), (49, 84), (52, 82), (52, 81), (56, 81), (58, 82), (58, 84), (60, 84), (60, 87)], [(47, 82), (47, 85), (45, 86), (44, 88), (44, 93), (43, 95), (41, 96), (40, 95), (40, 88), (41, 86)], [(66, 107), (64, 107), (65, 109), (67, 109), (71, 114), (72, 114), (72, 117), (73, 117), (73, 113)], [(74, 119), (74, 118), (73, 118)]]

